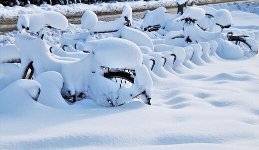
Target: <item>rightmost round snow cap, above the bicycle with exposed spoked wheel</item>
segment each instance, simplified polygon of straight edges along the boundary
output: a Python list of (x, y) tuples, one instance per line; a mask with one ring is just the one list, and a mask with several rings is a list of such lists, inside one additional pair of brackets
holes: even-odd
[(229, 10), (220, 9), (216, 11), (214, 15), (214, 21), (220, 25), (228, 26), (232, 23), (232, 15)]

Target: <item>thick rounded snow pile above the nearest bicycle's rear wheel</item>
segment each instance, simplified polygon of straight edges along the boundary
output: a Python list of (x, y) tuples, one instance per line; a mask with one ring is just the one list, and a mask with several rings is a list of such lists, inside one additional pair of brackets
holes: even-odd
[(116, 37), (87, 41), (84, 50), (94, 54), (99, 65), (113, 68), (131, 68), (142, 64), (140, 48), (133, 42)]

